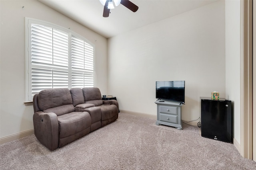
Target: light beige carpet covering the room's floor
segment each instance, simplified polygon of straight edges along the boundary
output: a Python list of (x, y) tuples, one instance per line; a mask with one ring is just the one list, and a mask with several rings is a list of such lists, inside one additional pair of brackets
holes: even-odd
[(201, 137), (154, 119), (120, 113), (118, 119), (54, 151), (34, 135), (0, 145), (1, 170), (255, 170), (233, 144)]

